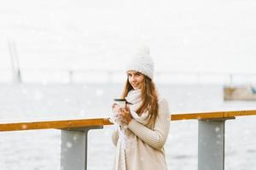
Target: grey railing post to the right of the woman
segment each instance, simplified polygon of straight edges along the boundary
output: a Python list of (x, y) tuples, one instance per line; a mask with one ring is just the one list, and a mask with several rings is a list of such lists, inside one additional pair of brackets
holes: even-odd
[(198, 121), (198, 170), (224, 170), (224, 123), (227, 119), (235, 117)]

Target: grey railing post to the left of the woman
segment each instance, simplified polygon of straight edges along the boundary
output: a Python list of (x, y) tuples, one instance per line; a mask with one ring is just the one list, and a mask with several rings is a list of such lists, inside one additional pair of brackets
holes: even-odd
[(99, 128), (61, 129), (61, 170), (87, 170), (88, 131)]

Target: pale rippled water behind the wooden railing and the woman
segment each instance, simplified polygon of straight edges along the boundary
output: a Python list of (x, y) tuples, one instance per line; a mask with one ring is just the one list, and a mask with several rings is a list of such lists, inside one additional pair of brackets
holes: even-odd
[[(0, 84), (1, 122), (65, 120), (108, 117), (112, 99), (122, 84)], [(256, 102), (223, 100), (218, 85), (160, 85), (160, 94), (172, 113), (199, 111), (254, 110)], [(256, 116), (237, 117), (226, 122), (225, 169), (250, 170), (256, 167)], [(91, 130), (89, 169), (112, 169), (113, 126)], [(0, 133), (1, 170), (61, 169), (61, 132), (32, 130)], [(172, 170), (197, 169), (197, 122), (171, 122), (166, 142), (166, 160)]]

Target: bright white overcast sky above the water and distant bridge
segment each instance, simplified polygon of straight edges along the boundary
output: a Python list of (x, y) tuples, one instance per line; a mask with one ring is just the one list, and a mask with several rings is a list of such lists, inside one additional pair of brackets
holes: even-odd
[(157, 70), (256, 73), (253, 0), (9, 0), (0, 3), (0, 68), (7, 39), (22, 68), (122, 69), (148, 44)]

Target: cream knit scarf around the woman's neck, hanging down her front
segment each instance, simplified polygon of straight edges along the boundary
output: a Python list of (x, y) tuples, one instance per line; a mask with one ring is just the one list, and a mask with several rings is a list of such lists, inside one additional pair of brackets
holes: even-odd
[[(142, 123), (143, 125), (146, 125), (149, 121), (148, 111), (143, 112), (140, 116), (137, 115), (136, 111), (137, 109), (142, 105), (142, 99), (141, 99), (141, 90), (131, 90), (127, 96), (126, 101), (129, 102), (130, 105), (130, 111), (131, 116), (134, 120), (137, 122)], [(136, 139), (137, 136), (134, 134), (131, 134), (128, 138), (128, 132), (129, 129), (126, 129), (125, 127), (122, 127), (122, 129), (119, 129), (119, 140), (117, 144), (117, 153), (116, 153), (116, 165), (115, 170), (126, 170), (125, 165), (125, 148), (129, 147), (133, 139)]]

